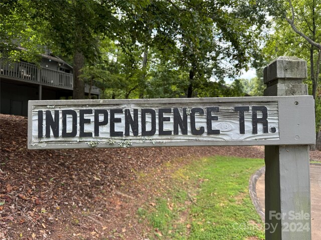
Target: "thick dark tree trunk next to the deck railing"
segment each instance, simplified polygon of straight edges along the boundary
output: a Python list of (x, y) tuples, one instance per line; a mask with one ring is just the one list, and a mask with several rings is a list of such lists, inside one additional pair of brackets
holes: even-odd
[(81, 75), (81, 68), (83, 68), (85, 62), (84, 54), (78, 50), (74, 53), (74, 87), (73, 87), (73, 99), (85, 98), (85, 83), (79, 77)]

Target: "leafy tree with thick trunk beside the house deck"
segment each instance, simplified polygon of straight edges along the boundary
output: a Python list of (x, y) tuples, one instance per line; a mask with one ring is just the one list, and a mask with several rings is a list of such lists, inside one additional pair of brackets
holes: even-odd
[[(106, 34), (110, 28), (117, 28), (114, 3), (18, 0), (1, 4), (5, 8), (2, 13), (5, 30), (1, 39), (9, 44), (16, 42), (16, 45), (26, 46), (29, 51), (38, 48), (38, 51), (33, 51), (37, 53), (46, 46), (53, 53), (69, 58), (74, 68), (73, 98), (84, 98), (84, 82), (79, 77), (81, 69), (86, 61), (93, 62), (99, 56), (101, 32)], [(13, 22), (13, 19), (18, 21)], [(14, 48), (11, 50), (15, 51)]]

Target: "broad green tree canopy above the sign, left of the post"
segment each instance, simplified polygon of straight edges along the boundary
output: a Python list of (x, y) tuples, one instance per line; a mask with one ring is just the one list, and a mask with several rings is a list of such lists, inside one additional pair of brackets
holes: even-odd
[[(50, 49), (63, 57), (74, 67), (74, 98), (84, 97), (82, 76), (89, 72), (105, 81), (106, 97), (213, 96), (209, 87), (220, 88), (224, 77), (259, 55), (265, 24), (261, 3), (247, 0), (0, 4), (1, 40), (8, 49), (2, 53), (36, 62), (37, 54)], [(97, 77), (92, 66), (98, 65), (102, 76), (117, 77)]]

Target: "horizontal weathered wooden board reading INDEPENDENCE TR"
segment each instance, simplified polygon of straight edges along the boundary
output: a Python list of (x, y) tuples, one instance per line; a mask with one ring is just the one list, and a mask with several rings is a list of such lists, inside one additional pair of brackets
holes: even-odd
[(29, 101), (28, 147), (313, 144), (313, 104), (311, 96)]

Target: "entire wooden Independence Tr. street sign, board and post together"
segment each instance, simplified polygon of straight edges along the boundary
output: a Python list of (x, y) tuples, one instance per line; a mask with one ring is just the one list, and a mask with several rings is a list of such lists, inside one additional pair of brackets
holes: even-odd
[[(28, 148), (266, 145), (265, 219), (276, 228), (266, 231), (266, 239), (310, 239), (306, 225), (295, 238), (283, 234), (281, 224), (293, 228), (290, 218), (274, 217), (292, 210), (310, 214), (308, 144), (315, 141), (313, 97), (279, 94), (302, 88), (297, 80), (295, 87), (283, 83), (293, 78), (287, 73), (296, 61), (275, 62), (264, 79), (266, 92), (276, 96), (29, 101)], [(281, 71), (280, 62), (288, 68)]]

